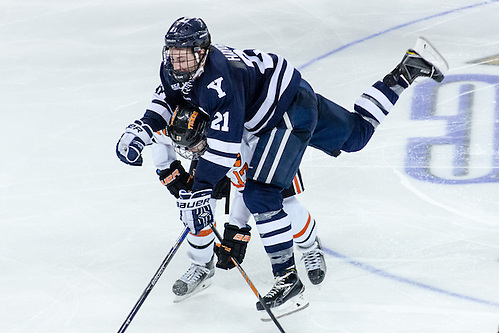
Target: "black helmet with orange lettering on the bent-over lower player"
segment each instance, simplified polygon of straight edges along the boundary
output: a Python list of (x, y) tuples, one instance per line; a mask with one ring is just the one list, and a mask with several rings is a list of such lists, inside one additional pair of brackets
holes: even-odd
[(208, 120), (206, 113), (191, 104), (177, 105), (168, 124), (168, 134), (178, 154), (192, 160), (206, 151)]

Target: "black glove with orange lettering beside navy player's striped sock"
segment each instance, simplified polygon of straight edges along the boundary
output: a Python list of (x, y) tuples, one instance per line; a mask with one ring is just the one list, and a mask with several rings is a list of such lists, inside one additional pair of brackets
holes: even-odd
[(251, 238), (251, 227), (247, 225), (239, 229), (237, 226), (225, 223), (224, 239), (222, 244), (215, 246), (215, 254), (218, 257), (217, 267), (232, 269), (236, 267), (231, 257), (242, 263), (246, 254), (246, 247)]

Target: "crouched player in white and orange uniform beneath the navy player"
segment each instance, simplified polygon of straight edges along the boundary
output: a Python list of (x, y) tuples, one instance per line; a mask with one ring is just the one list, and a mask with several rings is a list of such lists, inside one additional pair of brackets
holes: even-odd
[[(155, 95), (154, 101), (164, 100), (164, 95)], [(189, 103), (178, 105), (173, 117), (169, 121), (168, 129), (154, 133), (152, 144), (152, 156), (156, 165), (160, 181), (166, 185), (172, 195), (179, 197), (180, 190), (190, 190), (192, 185), (192, 171), (186, 172), (177, 154), (189, 160), (197, 160), (207, 148), (206, 145), (206, 123), (209, 120), (206, 114)], [(172, 138), (174, 139), (172, 142)], [(251, 213), (246, 208), (242, 199), (242, 191), (246, 182), (246, 171), (248, 161), (251, 160), (252, 146), (256, 143), (256, 137), (245, 136), (241, 145), (241, 152), (234, 167), (227, 173), (233, 186), (237, 189), (234, 194), (230, 209), (229, 226), (226, 232), (239, 229), (247, 230), (248, 238), (250, 227), (247, 225)], [(192, 147), (198, 147), (193, 152)], [(222, 184), (222, 185), (220, 185)], [(225, 195), (225, 184), (219, 183), (215, 186), (214, 195), (217, 199)], [(307, 209), (298, 201), (295, 194), (304, 191), (301, 174), (298, 171), (293, 184), (283, 191), (283, 204), (292, 218), (292, 230), (294, 243), (302, 254), (302, 261), (307, 276), (312, 284), (320, 284), (326, 274), (326, 262), (321, 243), (317, 237), (317, 226)], [(212, 204), (213, 209), (213, 204)], [(227, 231), (229, 230), (229, 231)], [(210, 278), (214, 275), (213, 243), (214, 235), (210, 227), (201, 230), (197, 235), (192, 233), (187, 236), (188, 257), (192, 261), (185, 274), (173, 285), (173, 292), (177, 295), (176, 301), (183, 300), (211, 284)], [(240, 253), (237, 259), (242, 262), (246, 252), (245, 240), (235, 240), (233, 247), (239, 247)], [(222, 262), (222, 261), (226, 262)], [(220, 268), (232, 268), (231, 261), (227, 256), (222, 256)], [(304, 288), (304, 287), (303, 287)], [(302, 301), (302, 306), (307, 302)]]

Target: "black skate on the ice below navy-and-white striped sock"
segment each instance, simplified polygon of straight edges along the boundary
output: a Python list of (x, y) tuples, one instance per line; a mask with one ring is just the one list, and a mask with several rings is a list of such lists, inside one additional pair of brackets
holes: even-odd
[[(296, 268), (293, 266), (275, 277), (272, 289), (262, 298), (274, 316), (280, 318), (308, 306), (309, 303), (303, 296), (304, 291), (305, 286), (300, 281)], [(256, 309), (261, 312), (263, 321), (271, 320), (260, 302), (256, 303)]]

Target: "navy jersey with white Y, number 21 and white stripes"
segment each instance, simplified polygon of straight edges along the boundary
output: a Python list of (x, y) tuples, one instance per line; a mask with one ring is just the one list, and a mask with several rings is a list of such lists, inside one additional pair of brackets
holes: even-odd
[(182, 99), (210, 116), (208, 150), (200, 158), (193, 190), (213, 187), (234, 165), (243, 131), (263, 133), (275, 127), (291, 104), (300, 73), (284, 58), (258, 50), (210, 48), (203, 74), (184, 85), (161, 67), (165, 101)]

